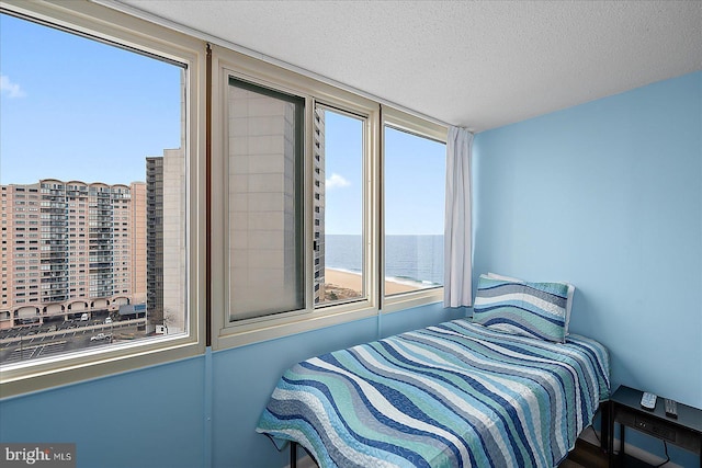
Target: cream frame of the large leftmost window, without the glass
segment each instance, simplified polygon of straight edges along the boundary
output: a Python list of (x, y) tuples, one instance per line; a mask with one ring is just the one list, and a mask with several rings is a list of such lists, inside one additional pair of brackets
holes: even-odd
[(10, 365), (0, 375), (0, 395), (10, 397), (79, 380), (182, 359), (205, 352), (205, 43), (90, 2), (3, 0), (3, 13), (24, 16), (94, 38), (185, 64), (185, 155), (189, 222), (185, 290), (188, 335), (163, 336), (97, 351)]

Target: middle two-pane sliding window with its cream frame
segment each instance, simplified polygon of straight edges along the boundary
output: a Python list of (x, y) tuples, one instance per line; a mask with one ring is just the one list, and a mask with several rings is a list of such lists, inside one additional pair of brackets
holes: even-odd
[(213, 347), (376, 315), (378, 105), (217, 46), (212, 105)]

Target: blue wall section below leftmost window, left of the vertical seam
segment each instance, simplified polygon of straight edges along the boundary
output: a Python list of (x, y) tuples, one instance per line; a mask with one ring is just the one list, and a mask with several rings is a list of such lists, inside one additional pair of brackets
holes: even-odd
[(200, 467), (204, 359), (0, 402), (0, 441), (76, 443), (78, 467)]

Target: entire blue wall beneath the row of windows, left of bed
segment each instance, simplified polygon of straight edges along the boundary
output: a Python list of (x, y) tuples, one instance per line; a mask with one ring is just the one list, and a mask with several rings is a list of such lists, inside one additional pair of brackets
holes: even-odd
[(283, 467), (287, 450), (254, 430), (285, 368), (458, 317), (430, 305), (5, 399), (0, 441), (76, 443), (78, 467)]

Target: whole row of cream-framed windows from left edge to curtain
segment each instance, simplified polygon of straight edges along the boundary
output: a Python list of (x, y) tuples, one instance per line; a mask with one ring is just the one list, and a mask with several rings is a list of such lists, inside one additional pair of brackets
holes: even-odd
[(94, 2), (0, 34), (3, 396), (440, 300), (444, 127)]

